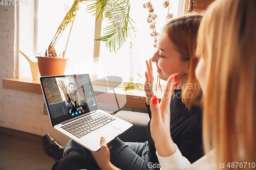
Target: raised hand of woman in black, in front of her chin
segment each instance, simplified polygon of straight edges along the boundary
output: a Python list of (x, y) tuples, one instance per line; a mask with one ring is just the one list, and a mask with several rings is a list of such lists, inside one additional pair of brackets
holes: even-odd
[(148, 104), (150, 104), (150, 99), (153, 94), (153, 83), (154, 83), (151, 58), (150, 58), (149, 62), (146, 60), (146, 67), (147, 67), (147, 71), (145, 72), (146, 81), (144, 84), (144, 91), (145, 91), (145, 95), (147, 96), (146, 104), (148, 105)]

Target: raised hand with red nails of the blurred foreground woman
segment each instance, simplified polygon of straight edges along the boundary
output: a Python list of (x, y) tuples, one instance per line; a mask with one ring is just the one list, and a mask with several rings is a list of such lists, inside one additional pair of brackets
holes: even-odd
[(176, 150), (170, 136), (170, 100), (175, 87), (179, 84), (179, 82), (174, 82), (175, 78), (177, 78), (177, 74), (168, 78), (161, 103), (158, 103), (155, 95), (150, 102), (152, 113), (150, 131), (157, 153), (160, 156), (172, 155)]

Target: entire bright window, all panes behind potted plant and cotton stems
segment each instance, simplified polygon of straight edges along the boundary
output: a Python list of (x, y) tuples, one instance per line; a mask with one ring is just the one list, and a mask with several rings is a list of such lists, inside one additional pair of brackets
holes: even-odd
[[(29, 5), (30, 8), (24, 8), (19, 11), (20, 22), (20, 33), (24, 36), (20, 38), (19, 44), (20, 50), (28, 53), (30, 58), (36, 53), (45, 53), (46, 48), (49, 46), (54, 34), (57, 31), (57, 27), (60, 25), (62, 19), (66, 15), (64, 10), (65, 4), (71, 7), (73, 1), (71, 0), (36, 0)], [(36, 4), (38, 2), (38, 5)], [(135, 21), (136, 37), (134, 37), (135, 44), (135, 58), (137, 63), (139, 63), (139, 68), (136, 70), (144, 78), (144, 72), (146, 70), (145, 60), (148, 60), (153, 56), (156, 48), (153, 47), (153, 38), (150, 36), (152, 30), (149, 28), (150, 23), (147, 23), (147, 15), (149, 14), (147, 9), (143, 8), (143, 4), (147, 1), (131, 0), (131, 11), (130, 17)], [(155, 8), (155, 14), (158, 15), (156, 19), (156, 29), (157, 32), (161, 32), (161, 28), (166, 23), (167, 9), (163, 8), (162, 4), (164, 1), (159, 2), (157, 0), (151, 1)], [(170, 0), (170, 10), (169, 13), (174, 13), (174, 17), (178, 16), (183, 10), (183, 0)], [(94, 49), (94, 30), (95, 30), (95, 16), (92, 13), (88, 13), (84, 8), (86, 4), (80, 3), (80, 10), (77, 12), (75, 17), (73, 29), (69, 39), (69, 44), (67, 47), (67, 52), (65, 58), (68, 58), (68, 65), (65, 74), (73, 73), (89, 73), (94, 69), (91, 63), (93, 59), (93, 49)], [(38, 25), (33, 18), (36, 13), (36, 8), (38, 7)], [(29, 12), (30, 11), (30, 12)], [(180, 15), (180, 14), (179, 14)], [(102, 23), (102, 28), (104, 23)], [(29, 29), (28, 29), (29, 28)], [(34, 30), (35, 31), (34, 31)], [(58, 40), (55, 50), (58, 54), (62, 55), (65, 51), (68, 35), (70, 31), (70, 26), (68, 26), (60, 39)], [(23, 34), (24, 33), (24, 34)], [(34, 34), (35, 33), (35, 34)], [(29, 36), (28, 36), (29, 35)], [(37, 36), (35, 36), (37, 35)], [(28, 44), (24, 44), (26, 39), (30, 39)], [(36, 41), (36, 43), (34, 43)], [(36, 47), (32, 47), (33, 44), (37, 44)], [(100, 43), (100, 61), (102, 68), (104, 70), (105, 76), (119, 76), (123, 79), (123, 82), (129, 82), (130, 74), (130, 43), (127, 40), (124, 45), (116, 52), (110, 53), (106, 49), (104, 42)], [(28, 52), (30, 49), (30, 52)], [(35, 49), (35, 50), (34, 50)], [(34, 51), (34, 54), (33, 54)], [(20, 57), (22, 58), (22, 57)], [(25, 59), (24, 59), (25, 60)], [(90, 61), (90, 62), (88, 62)], [(26, 62), (26, 60), (25, 60)], [(153, 64), (154, 65), (154, 64)], [(28, 66), (27, 66), (28, 67)], [(28, 67), (29, 68), (29, 67)], [(27, 68), (27, 69), (28, 69)], [(136, 67), (137, 69), (138, 67)], [(27, 71), (29, 72), (29, 71)], [(156, 75), (155, 75), (156, 76)], [(141, 79), (141, 83), (144, 83), (144, 79)]]

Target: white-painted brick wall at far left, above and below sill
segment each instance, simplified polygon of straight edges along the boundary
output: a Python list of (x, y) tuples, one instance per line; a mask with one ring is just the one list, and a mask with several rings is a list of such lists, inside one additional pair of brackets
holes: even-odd
[(42, 114), (42, 94), (3, 89), (3, 79), (14, 78), (14, 6), (0, 6), (0, 127), (42, 135), (52, 134), (63, 145), (68, 138)]

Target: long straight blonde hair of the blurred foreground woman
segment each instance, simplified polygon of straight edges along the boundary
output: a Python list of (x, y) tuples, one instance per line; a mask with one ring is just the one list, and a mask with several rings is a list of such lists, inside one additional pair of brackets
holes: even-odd
[(256, 1), (217, 0), (199, 28), (196, 55), (207, 65), (204, 149), (216, 149), (225, 167), (256, 160), (255, 18)]

